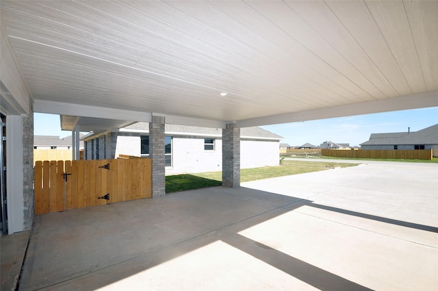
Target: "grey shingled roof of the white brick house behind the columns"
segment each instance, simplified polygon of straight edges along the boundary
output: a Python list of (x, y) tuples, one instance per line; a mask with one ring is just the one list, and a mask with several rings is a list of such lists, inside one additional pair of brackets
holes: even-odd
[[(149, 132), (149, 123), (134, 123), (120, 129), (120, 131), (138, 131), (138, 132)], [(187, 125), (165, 125), (166, 134), (173, 135), (196, 135), (196, 136), (212, 136), (221, 137), (222, 129), (211, 128), (211, 127), (196, 127)], [(283, 137), (273, 134), (270, 131), (262, 129), (260, 127), (242, 127), (240, 129), (240, 138), (261, 138), (269, 140), (282, 140)]]

